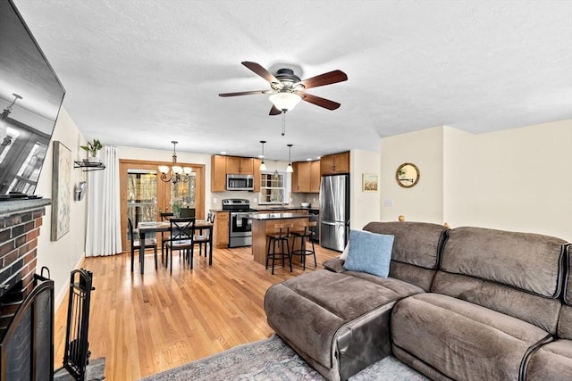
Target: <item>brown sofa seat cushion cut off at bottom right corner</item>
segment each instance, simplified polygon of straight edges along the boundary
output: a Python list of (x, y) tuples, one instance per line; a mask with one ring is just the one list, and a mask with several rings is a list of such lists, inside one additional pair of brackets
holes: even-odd
[(526, 380), (572, 380), (572, 341), (541, 346), (528, 361)]

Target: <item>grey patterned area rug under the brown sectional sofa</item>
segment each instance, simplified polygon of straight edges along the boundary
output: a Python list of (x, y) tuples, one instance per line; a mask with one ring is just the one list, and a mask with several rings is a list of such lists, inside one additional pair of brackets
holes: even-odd
[[(416, 381), (428, 378), (389, 356), (349, 379)], [(323, 381), (325, 378), (307, 365), (280, 337), (272, 335), (268, 339), (239, 345), (140, 381), (163, 380)]]

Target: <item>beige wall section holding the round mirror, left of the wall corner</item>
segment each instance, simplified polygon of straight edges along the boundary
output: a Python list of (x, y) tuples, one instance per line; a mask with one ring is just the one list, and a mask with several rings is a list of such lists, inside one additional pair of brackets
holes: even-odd
[[(443, 222), (443, 128), (385, 137), (381, 140), (381, 220)], [(395, 171), (404, 162), (420, 172), (416, 186), (397, 184)]]

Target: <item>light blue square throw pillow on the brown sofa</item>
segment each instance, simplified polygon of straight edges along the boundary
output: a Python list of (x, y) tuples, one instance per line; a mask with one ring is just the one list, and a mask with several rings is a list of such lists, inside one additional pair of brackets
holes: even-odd
[(364, 230), (350, 230), (348, 258), (343, 268), (387, 277), (390, 273), (393, 238)]

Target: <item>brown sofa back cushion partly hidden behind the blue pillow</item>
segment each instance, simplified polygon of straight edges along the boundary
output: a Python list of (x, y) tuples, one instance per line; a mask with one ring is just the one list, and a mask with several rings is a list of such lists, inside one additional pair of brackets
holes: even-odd
[(443, 241), (442, 225), (425, 222), (370, 222), (364, 230), (394, 236), (391, 260), (437, 269)]

